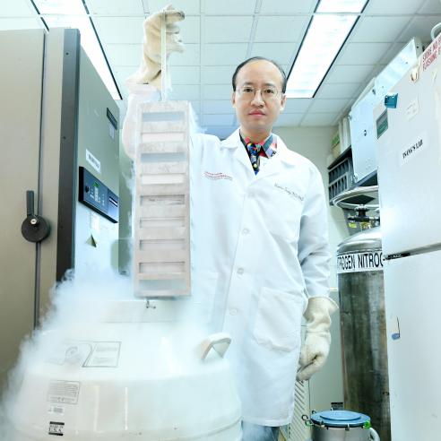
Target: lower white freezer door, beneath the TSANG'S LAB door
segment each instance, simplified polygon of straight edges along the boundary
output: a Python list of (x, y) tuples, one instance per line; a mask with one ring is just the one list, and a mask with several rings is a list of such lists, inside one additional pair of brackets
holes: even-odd
[(393, 441), (439, 439), (441, 251), (385, 263)]

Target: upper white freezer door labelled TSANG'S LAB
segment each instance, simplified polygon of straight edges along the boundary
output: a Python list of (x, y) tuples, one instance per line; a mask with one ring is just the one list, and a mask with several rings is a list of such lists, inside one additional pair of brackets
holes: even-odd
[(417, 81), (404, 76), (397, 108), (375, 110), (385, 255), (441, 243), (440, 59), (426, 69), (421, 61)]

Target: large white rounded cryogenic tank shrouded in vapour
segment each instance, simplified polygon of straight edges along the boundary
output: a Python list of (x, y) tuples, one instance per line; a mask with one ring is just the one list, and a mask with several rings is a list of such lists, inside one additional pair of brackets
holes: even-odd
[(98, 324), (41, 334), (8, 441), (238, 441), (229, 337), (179, 320), (182, 303), (108, 301)]

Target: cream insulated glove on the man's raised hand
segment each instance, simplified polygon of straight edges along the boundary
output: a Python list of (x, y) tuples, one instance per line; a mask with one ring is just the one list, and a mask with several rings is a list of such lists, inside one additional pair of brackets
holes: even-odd
[(148, 82), (160, 90), (161, 82), (161, 53), (160, 25), (162, 13), (166, 13), (166, 50), (167, 58), (171, 52), (184, 52), (184, 44), (179, 35), (176, 22), (184, 20), (185, 14), (169, 4), (162, 11), (152, 13), (144, 21), (143, 58), (136, 73), (127, 78), (127, 82), (144, 84)]

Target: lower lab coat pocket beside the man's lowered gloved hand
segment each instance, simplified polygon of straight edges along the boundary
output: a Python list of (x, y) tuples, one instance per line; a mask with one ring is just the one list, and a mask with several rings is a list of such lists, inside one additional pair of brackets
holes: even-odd
[(256, 342), (275, 350), (298, 349), (304, 307), (301, 294), (262, 288), (255, 316)]

